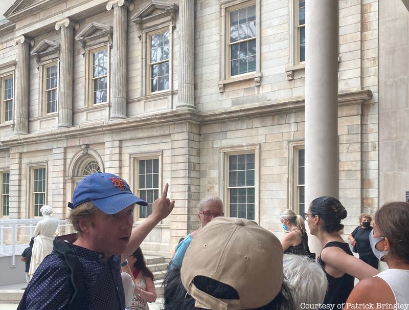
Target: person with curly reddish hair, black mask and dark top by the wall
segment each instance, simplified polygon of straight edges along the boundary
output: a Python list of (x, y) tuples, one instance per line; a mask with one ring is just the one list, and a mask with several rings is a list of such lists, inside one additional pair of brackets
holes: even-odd
[(371, 226), (372, 217), (367, 213), (359, 215), (359, 226), (348, 236), (351, 245), (358, 252), (359, 259), (365, 261), (373, 268), (378, 269), (378, 259), (374, 255), (370, 245), (370, 233), (373, 227)]

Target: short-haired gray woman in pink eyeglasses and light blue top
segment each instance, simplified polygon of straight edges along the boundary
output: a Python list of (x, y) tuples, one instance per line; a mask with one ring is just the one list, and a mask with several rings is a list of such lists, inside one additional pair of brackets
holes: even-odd
[(190, 242), (194, 236), (206, 226), (213, 218), (223, 216), (223, 203), (219, 197), (207, 196), (199, 202), (199, 212), (197, 217), (199, 218), (200, 228), (188, 234), (183, 241), (181, 241), (176, 247), (175, 255), (170, 262), (170, 269), (180, 267), (182, 265), (183, 258), (185, 257), (186, 250), (188, 249)]

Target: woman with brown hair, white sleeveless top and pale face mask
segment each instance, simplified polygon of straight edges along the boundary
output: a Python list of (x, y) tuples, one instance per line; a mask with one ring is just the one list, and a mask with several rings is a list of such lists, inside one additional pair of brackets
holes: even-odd
[(373, 278), (366, 278), (355, 286), (345, 309), (353, 305), (409, 304), (409, 203), (386, 203), (375, 214), (374, 229), (370, 235), (376, 257), (389, 269)]

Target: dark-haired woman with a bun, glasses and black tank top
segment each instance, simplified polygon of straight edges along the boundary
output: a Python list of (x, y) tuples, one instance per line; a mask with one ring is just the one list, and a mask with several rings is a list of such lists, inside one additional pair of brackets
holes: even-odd
[(340, 222), (347, 214), (339, 200), (330, 196), (315, 198), (304, 214), (311, 234), (320, 240), (323, 248), (318, 258), (328, 279), (323, 304), (334, 304), (338, 309), (344, 307), (354, 287), (354, 277), (361, 280), (378, 273), (375, 268), (354, 257), (348, 243), (340, 236), (339, 230), (344, 228)]

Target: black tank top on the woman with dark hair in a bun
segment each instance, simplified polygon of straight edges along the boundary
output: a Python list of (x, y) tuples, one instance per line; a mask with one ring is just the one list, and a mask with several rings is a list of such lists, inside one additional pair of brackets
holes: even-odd
[[(348, 243), (331, 241), (328, 242), (323, 249), (329, 247), (340, 248), (348, 255), (353, 256), (351, 250), (349, 249)], [(318, 258), (318, 263), (322, 265), (323, 268), (325, 268), (325, 262), (321, 259), (321, 256)], [(347, 301), (349, 294), (354, 288), (355, 278), (346, 273), (340, 278), (334, 278), (333, 276), (329, 275), (325, 270), (324, 272), (328, 280), (328, 291), (327, 294), (325, 295), (323, 304), (335, 304), (334, 309), (336, 309), (338, 304), (342, 304)], [(341, 308), (342, 306), (338, 307), (338, 309)]]

